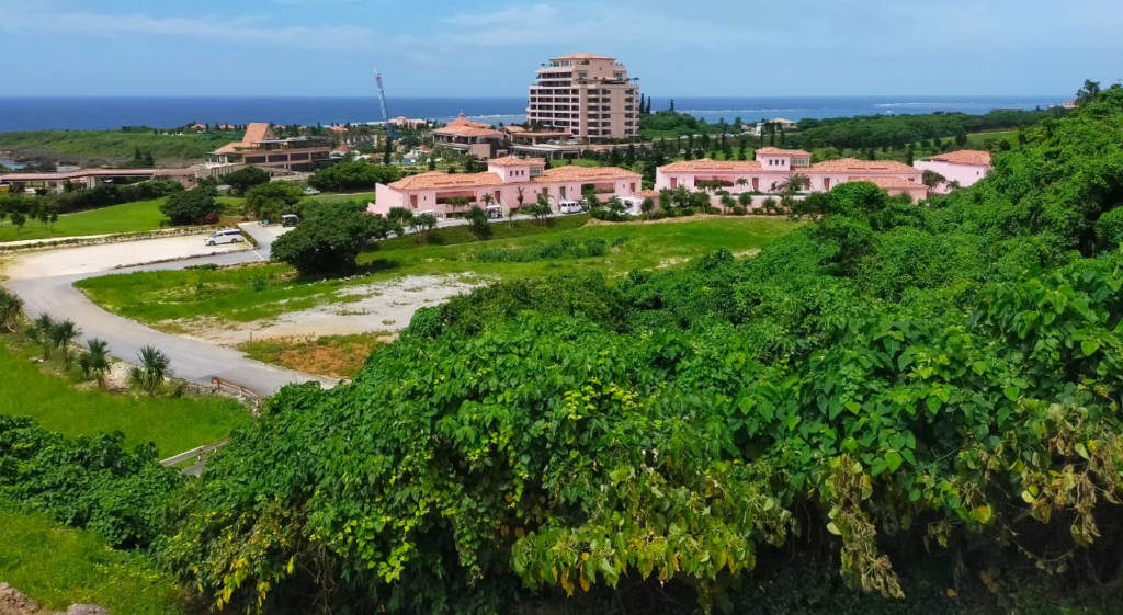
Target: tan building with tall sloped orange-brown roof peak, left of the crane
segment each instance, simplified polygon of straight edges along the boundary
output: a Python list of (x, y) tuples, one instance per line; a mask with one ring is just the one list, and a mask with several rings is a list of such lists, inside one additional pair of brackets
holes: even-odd
[(273, 127), (254, 122), (246, 127), (240, 143), (231, 143), (210, 155), (210, 166), (235, 169), (234, 165), (281, 167), (287, 171), (311, 171), (313, 165), (327, 160), (331, 147), (311, 137), (279, 139)]

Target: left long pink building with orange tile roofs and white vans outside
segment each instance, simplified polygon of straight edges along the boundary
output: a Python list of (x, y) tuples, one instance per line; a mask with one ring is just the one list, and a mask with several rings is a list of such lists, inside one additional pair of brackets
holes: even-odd
[[(562, 201), (579, 201), (586, 186), (596, 190), (602, 201), (637, 195), (642, 190), (641, 180), (639, 173), (623, 168), (562, 166), (547, 169), (545, 159), (509, 156), (489, 160), (486, 173), (433, 171), (392, 184), (378, 184), (375, 202), (367, 211), (385, 215), (391, 208), (405, 208), (414, 213), (446, 218), (463, 215), (472, 205), (480, 205), (501, 208), (505, 214), (520, 206), (520, 191), (522, 205), (535, 203), (539, 194), (546, 194), (557, 211)], [(448, 204), (449, 199), (462, 198), (468, 200), (466, 206)]]

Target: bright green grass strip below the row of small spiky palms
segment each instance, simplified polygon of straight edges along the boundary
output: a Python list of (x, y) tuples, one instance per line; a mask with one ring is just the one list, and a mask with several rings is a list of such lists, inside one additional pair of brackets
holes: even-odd
[(30, 416), (64, 435), (120, 431), (128, 446), (154, 442), (162, 457), (171, 457), (220, 440), (249, 421), (246, 409), (230, 400), (79, 391), (66, 378), (33, 364), (31, 356), (37, 356), (36, 349), (17, 346), (11, 336), (0, 337), (0, 374), (4, 375), (0, 414)]

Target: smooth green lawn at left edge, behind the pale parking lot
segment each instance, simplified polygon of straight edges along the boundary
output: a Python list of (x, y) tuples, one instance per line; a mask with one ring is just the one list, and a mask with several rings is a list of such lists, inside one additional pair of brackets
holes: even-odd
[(164, 219), (159, 212), (163, 202), (164, 199), (156, 199), (67, 213), (58, 217), (53, 229), (29, 221), (24, 230), (17, 231), (11, 222), (7, 222), (0, 227), (0, 242), (153, 231), (159, 229), (159, 221)]

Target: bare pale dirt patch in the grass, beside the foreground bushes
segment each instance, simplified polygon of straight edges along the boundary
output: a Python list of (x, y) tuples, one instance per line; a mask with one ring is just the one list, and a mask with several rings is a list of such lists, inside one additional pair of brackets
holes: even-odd
[(394, 332), (405, 329), (420, 308), (437, 305), (478, 286), (455, 276), (408, 276), (348, 288), (346, 294), (357, 297), (354, 302), (318, 305), (275, 320), (239, 324), (192, 320), (170, 324), (186, 337), (230, 347), (273, 338)]

